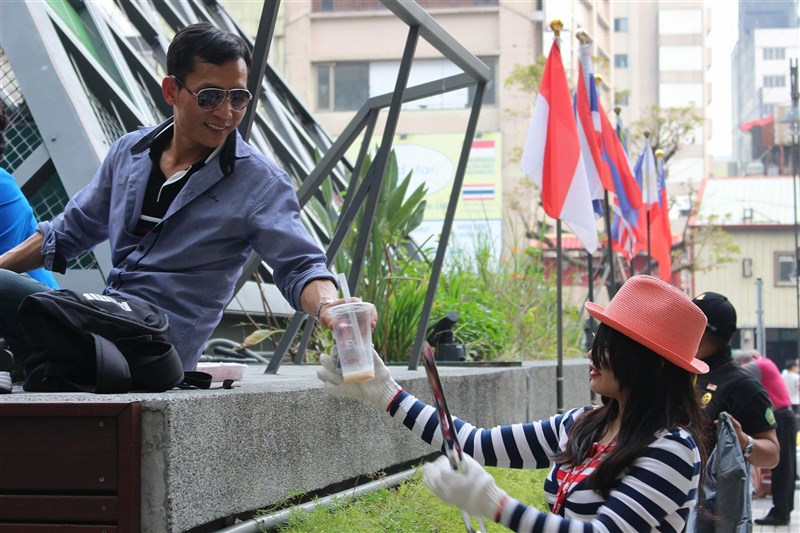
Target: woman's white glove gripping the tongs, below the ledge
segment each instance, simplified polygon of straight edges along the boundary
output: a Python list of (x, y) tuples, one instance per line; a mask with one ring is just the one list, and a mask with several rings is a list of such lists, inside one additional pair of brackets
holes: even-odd
[(473, 516), (494, 520), (506, 492), (494, 478), (467, 454), (461, 460), (464, 473), (450, 466), (447, 457), (440, 457), (423, 467), (422, 482), (442, 501), (450, 503)]

